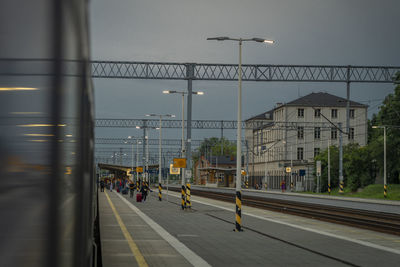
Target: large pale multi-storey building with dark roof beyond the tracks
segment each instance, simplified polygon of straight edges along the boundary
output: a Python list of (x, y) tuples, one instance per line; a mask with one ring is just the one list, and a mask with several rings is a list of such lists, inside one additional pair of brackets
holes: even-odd
[[(367, 105), (350, 101), (349, 132), (343, 145), (367, 143)], [(329, 121), (331, 121), (331, 123)], [(291, 170), (296, 190), (311, 190), (314, 157), (331, 145), (339, 146), (339, 124), (346, 132), (346, 99), (311, 93), (246, 120), (246, 159), (249, 183), (278, 189)], [(335, 175), (335, 174), (332, 174)], [(338, 175), (338, 174), (337, 174)]]

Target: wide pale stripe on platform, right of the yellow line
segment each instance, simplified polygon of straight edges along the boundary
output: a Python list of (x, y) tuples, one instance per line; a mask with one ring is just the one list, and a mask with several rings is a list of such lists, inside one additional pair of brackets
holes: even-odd
[(164, 228), (154, 222), (150, 217), (136, 208), (132, 203), (122, 197), (120, 194), (115, 193), (122, 201), (124, 201), (140, 218), (142, 218), (154, 231), (156, 231), (165, 241), (167, 241), (172, 247), (176, 249), (189, 263), (193, 266), (211, 266), (200, 256), (190, 250), (187, 246), (181, 243), (178, 239), (173, 237)]

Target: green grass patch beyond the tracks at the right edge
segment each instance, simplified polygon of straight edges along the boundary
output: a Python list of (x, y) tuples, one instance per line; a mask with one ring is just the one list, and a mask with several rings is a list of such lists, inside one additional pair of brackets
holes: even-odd
[[(400, 200), (400, 184), (388, 185), (387, 190), (388, 200)], [(314, 192), (304, 192), (306, 194), (315, 195), (328, 195), (325, 193), (314, 193)], [(344, 193), (339, 194), (339, 188), (332, 189), (331, 196), (344, 196), (344, 197), (359, 197), (359, 198), (370, 198), (370, 199), (385, 199), (383, 196), (383, 185), (373, 184), (364, 187), (360, 192), (351, 192), (349, 188), (344, 188)]]

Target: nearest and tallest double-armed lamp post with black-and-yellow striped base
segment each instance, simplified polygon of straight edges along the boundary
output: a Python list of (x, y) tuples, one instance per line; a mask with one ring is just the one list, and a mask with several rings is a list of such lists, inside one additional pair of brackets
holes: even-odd
[(216, 40), (216, 41), (237, 41), (239, 42), (239, 67), (238, 67), (238, 113), (237, 113), (237, 141), (236, 141), (236, 231), (242, 231), (241, 226), (241, 214), (242, 214), (242, 193), (241, 193), (241, 165), (242, 165), (242, 43), (247, 41), (259, 42), (259, 43), (267, 43), (273, 44), (274, 41), (266, 40), (262, 38), (251, 38), (251, 39), (243, 39), (243, 38), (229, 38), (229, 37), (212, 37), (207, 38), (207, 40)]

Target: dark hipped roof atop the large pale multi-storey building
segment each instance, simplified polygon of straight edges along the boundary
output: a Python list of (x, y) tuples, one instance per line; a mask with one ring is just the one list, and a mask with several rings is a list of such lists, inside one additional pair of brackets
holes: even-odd
[[(346, 102), (345, 98), (319, 92), (300, 97), (282, 106), (346, 107)], [(366, 108), (367, 105), (350, 100), (350, 107)]]

